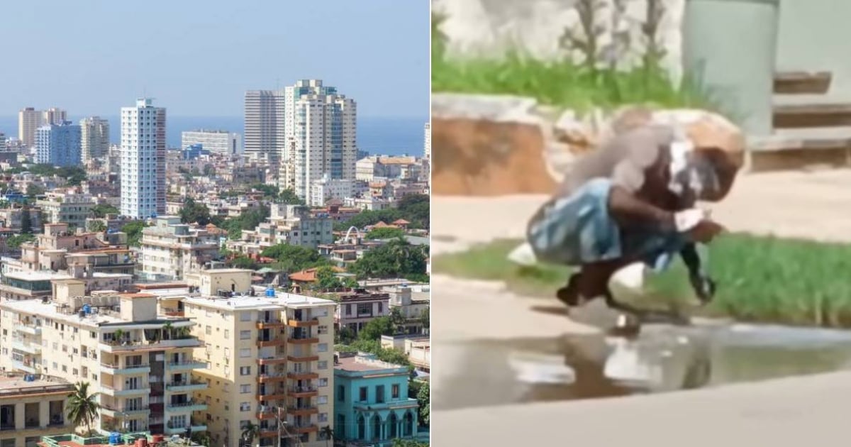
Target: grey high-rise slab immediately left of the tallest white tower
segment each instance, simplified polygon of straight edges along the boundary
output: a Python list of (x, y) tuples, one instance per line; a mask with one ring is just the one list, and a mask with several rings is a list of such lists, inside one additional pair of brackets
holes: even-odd
[(284, 95), (282, 90), (245, 92), (245, 153), (272, 163), (280, 160), (284, 145)]

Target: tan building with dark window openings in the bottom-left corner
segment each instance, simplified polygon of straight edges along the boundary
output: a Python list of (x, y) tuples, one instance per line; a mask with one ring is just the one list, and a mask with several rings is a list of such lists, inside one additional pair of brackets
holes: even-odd
[(68, 394), (73, 393), (74, 386), (58, 377), (26, 379), (22, 374), (0, 375), (0, 445), (3, 447), (36, 447), (42, 436), (74, 430), (66, 421)]

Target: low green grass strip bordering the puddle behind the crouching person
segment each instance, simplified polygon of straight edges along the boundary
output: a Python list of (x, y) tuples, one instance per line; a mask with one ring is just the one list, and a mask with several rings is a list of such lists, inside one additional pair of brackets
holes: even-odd
[[(499, 240), (436, 257), (434, 272), (460, 278), (503, 281), (522, 295), (554, 297), (568, 279), (558, 266), (520, 267), (506, 259), (521, 241)], [(700, 315), (740, 321), (851, 327), (851, 244), (726, 234), (709, 249), (717, 282), (710, 306)], [(681, 308), (694, 302), (681, 261), (648, 280), (642, 306)]]

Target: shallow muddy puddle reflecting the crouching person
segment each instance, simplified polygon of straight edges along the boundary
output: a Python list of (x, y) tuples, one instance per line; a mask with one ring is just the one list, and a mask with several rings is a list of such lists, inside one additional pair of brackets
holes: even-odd
[(851, 331), (645, 325), (635, 338), (443, 343), (437, 410), (665, 393), (851, 369)]

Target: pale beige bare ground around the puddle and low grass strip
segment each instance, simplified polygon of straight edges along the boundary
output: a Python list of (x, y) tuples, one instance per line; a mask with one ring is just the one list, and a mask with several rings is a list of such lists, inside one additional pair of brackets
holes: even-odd
[[(522, 238), (540, 196), (432, 199), (432, 254), (494, 238)], [(730, 230), (851, 241), (851, 170), (742, 176), (723, 203), (709, 205)], [(442, 341), (550, 337), (593, 330), (533, 312), (540, 304), (499, 284), (432, 278), (432, 387), (453, 370)], [(499, 393), (494, 390), (494, 393)], [(434, 411), (435, 445), (800, 446), (848, 438), (851, 372), (794, 377), (631, 398)]]

